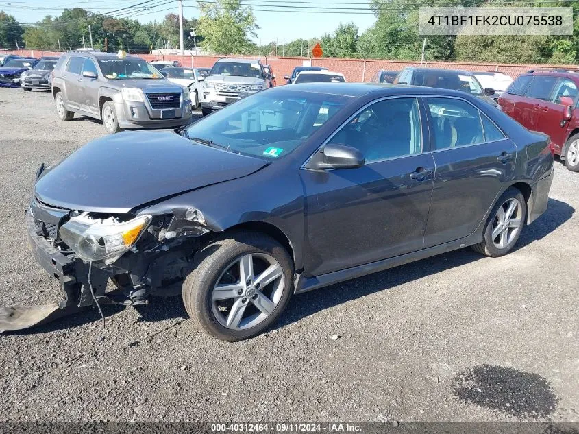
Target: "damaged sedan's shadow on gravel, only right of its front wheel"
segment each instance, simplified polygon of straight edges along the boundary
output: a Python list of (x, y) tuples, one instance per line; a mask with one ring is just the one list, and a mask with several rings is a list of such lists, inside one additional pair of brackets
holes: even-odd
[[(569, 220), (574, 211), (575, 209), (566, 202), (550, 198), (547, 211), (530, 226), (526, 226), (523, 229), (515, 250), (546, 237), (563, 225), (565, 221)], [(460, 267), (461, 265), (478, 261), (483, 257), (470, 248), (454, 250), (453, 252), (387, 269), (384, 272), (369, 274), (301, 294), (291, 300), (285, 313), (282, 314), (280, 322), (274, 328), (281, 328), (332, 306), (397, 287), (430, 274), (437, 274), (447, 269)]]

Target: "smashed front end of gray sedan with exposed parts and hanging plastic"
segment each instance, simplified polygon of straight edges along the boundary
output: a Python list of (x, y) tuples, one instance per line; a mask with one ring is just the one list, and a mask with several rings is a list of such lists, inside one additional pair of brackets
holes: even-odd
[[(110, 215), (69, 210), (37, 197), (25, 221), (34, 258), (58, 279), (64, 298), (58, 304), (0, 308), (0, 331), (45, 324), (95, 304), (146, 304), (149, 295), (178, 295), (211, 232), (192, 207), (163, 215)], [(109, 280), (116, 288), (108, 290)]]

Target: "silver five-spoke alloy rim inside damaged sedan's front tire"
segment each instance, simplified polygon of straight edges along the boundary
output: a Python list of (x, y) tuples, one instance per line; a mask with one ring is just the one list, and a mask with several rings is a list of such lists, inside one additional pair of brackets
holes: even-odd
[(278, 306), (284, 291), (284, 272), (264, 253), (237, 258), (217, 279), (211, 294), (213, 315), (232, 330), (254, 327)]

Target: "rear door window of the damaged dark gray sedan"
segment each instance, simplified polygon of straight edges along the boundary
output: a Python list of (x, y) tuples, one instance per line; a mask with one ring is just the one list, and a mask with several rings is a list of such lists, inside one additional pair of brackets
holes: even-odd
[(478, 108), (461, 99), (426, 98), (432, 117), (435, 149), (484, 143)]

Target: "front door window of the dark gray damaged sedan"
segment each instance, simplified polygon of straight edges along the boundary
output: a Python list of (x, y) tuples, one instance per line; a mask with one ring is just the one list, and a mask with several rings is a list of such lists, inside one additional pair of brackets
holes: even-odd
[(416, 98), (378, 101), (356, 115), (330, 142), (355, 147), (366, 163), (420, 154), (418, 101)]

